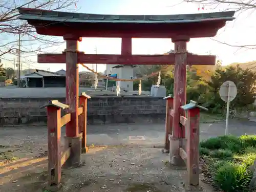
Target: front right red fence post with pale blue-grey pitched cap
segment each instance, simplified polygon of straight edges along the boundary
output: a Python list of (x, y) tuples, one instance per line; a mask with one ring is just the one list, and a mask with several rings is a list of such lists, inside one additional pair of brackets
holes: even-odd
[(199, 120), (200, 109), (208, 111), (206, 108), (198, 105), (196, 101), (181, 106), (181, 109), (187, 111), (187, 175), (188, 184), (197, 186), (199, 185)]

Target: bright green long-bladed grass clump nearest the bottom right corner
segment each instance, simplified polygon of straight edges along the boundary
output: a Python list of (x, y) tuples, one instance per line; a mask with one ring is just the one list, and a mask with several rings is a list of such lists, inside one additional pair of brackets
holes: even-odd
[(225, 192), (249, 191), (252, 173), (245, 165), (227, 163), (220, 166), (214, 174), (215, 184)]

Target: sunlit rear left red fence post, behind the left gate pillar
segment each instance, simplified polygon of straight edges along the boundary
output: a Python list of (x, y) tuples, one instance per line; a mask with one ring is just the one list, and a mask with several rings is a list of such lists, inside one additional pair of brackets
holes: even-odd
[(87, 101), (91, 97), (86, 93), (82, 93), (79, 96), (79, 106), (82, 106), (82, 113), (79, 115), (79, 131), (82, 134), (82, 153), (88, 152), (88, 147), (86, 146), (87, 137)]

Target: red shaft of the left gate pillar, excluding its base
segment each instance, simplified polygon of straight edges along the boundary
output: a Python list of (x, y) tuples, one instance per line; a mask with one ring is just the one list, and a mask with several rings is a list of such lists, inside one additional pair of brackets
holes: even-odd
[(66, 124), (66, 136), (77, 137), (78, 130), (78, 41), (81, 37), (66, 35), (63, 37), (67, 41), (66, 49), (66, 104), (69, 105), (67, 113), (71, 113), (71, 121)]

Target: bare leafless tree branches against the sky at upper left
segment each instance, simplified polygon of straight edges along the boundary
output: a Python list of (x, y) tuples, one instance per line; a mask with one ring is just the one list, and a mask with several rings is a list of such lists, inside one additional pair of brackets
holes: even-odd
[[(22, 36), (21, 53), (30, 56), (37, 51), (47, 52), (49, 48), (59, 46), (63, 39), (36, 34), (34, 27), (20, 20), (18, 8), (63, 10), (76, 6), (77, 0), (0, 0), (0, 58), (7, 53), (16, 54), (18, 34)], [(52, 52), (52, 51), (51, 51)], [(7, 57), (5, 59), (8, 60)]]

